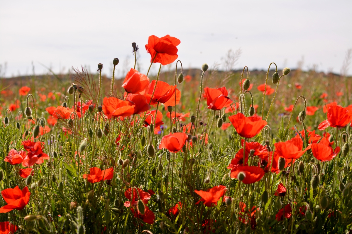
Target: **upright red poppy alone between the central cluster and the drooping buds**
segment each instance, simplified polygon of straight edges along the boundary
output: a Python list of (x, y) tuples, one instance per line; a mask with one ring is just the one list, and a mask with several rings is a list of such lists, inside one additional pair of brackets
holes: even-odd
[(218, 111), (231, 105), (232, 100), (227, 96), (228, 92), (225, 87), (222, 88), (204, 88), (204, 94), (207, 98), (208, 109)]

